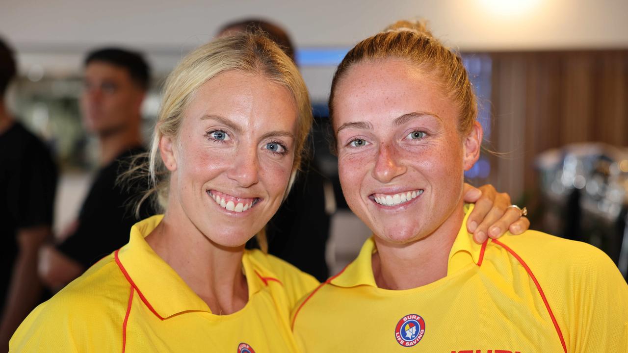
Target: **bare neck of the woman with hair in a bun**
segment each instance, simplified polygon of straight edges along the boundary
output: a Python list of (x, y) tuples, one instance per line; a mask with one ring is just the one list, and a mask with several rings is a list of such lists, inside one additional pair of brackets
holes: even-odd
[[(409, 244), (393, 244), (375, 236), (372, 268), (379, 288), (408, 290), (447, 276), (449, 253), (464, 219), (463, 203), (428, 236)], [(403, 271), (399, 271), (403, 269)]]

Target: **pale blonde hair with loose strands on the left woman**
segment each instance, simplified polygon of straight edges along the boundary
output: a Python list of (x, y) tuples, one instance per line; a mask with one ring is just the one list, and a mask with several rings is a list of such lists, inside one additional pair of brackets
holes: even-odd
[[(149, 175), (149, 190), (139, 200), (136, 212), (141, 203), (150, 198), (153, 198), (156, 209), (160, 211), (165, 209), (168, 203), (170, 171), (159, 155), (160, 139), (162, 136), (177, 137), (185, 109), (198, 88), (220, 73), (230, 70), (264, 75), (272, 82), (288, 89), (295, 100), (298, 111), (297, 135), (293, 173), (286, 188), (288, 193), (301, 159), (305, 155), (305, 141), (312, 124), (310, 97), (295, 63), (276, 43), (263, 34), (237, 33), (200, 46), (183, 58), (168, 75), (148, 154), (148, 163), (136, 165), (127, 172), (134, 175), (134, 178), (141, 175), (142, 170), (144, 177), (146, 173)], [(257, 241), (262, 249), (266, 250), (268, 246), (264, 231), (261, 233), (257, 235)]]

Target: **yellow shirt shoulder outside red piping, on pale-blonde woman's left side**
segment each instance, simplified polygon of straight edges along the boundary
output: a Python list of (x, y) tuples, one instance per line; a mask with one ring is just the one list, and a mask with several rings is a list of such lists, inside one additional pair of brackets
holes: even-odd
[(114, 257), (107, 256), (35, 308), (11, 338), (11, 350), (36, 351), (45, 344), (61, 352), (117, 342), (113, 335), (122, 327), (130, 290)]

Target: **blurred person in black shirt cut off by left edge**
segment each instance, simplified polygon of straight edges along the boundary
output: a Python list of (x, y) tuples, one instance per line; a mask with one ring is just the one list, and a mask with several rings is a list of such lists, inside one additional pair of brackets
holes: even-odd
[(38, 251), (51, 236), (57, 168), (48, 148), (15, 120), (4, 95), (16, 76), (13, 51), (0, 40), (0, 352), (40, 303)]

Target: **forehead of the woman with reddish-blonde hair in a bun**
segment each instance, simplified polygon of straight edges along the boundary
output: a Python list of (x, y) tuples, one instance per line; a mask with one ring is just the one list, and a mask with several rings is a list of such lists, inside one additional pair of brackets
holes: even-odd
[(406, 60), (362, 62), (349, 68), (333, 100), (334, 125), (354, 119), (394, 119), (409, 112), (457, 116), (436, 75)]

